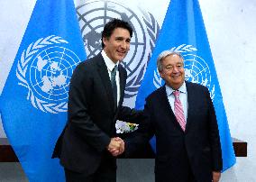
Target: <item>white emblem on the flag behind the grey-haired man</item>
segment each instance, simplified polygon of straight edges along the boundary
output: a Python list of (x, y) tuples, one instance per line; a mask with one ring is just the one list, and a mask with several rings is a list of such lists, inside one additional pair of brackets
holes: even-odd
[[(212, 100), (214, 100), (215, 85), (212, 82), (211, 71), (206, 63), (206, 60), (195, 54), (189, 53), (192, 51), (197, 51), (197, 48), (193, 47), (192, 45), (182, 44), (178, 47), (171, 48), (170, 50), (182, 53), (184, 58), (185, 79), (187, 81), (206, 86), (210, 91)], [(163, 80), (160, 77), (160, 73), (157, 69), (154, 71), (153, 83), (157, 88), (163, 85)]]

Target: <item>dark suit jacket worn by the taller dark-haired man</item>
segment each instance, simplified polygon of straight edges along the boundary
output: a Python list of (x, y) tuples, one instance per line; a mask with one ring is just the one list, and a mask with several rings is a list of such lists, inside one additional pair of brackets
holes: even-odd
[(94, 173), (103, 155), (111, 158), (106, 147), (115, 136), (115, 121), (141, 120), (142, 112), (122, 106), (127, 74), (121, 65), (118, 70), (121, 96), (117, 109), (101, 54), (81, 62), (74, 70), (69, 87), (69, 121), (52, 155), (59, 157), (64, 168), (88, 175)]

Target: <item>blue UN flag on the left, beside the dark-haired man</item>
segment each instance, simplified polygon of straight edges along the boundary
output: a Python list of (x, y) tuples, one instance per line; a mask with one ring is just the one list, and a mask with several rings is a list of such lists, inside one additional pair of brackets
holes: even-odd
[(69, 80), (86, 59), (72, 0), (38, 0), (0, 106), (5, 133), (30, 181), (64, 181), (50, 159), (67, 120)]

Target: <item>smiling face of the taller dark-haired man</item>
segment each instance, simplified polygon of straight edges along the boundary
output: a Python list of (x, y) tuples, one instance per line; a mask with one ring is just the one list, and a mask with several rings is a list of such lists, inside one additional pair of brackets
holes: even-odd
[(123, 28), (116, 28), (111, 36), (103, 38), (105, 53), (114, 63), (123, 60), (130, 50), (130, 32)]

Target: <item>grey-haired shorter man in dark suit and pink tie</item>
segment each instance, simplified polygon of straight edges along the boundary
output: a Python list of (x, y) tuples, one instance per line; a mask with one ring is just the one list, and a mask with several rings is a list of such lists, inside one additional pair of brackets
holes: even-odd
[(208, 89), (185, 81), (184, 59), (178, 52), (161, 52), (157, 67), (165, 85), (146, 98), (145, 121), (125, 140), (126, 155), (155, 135), (156, 182), (218, 182), (222, 150)]

